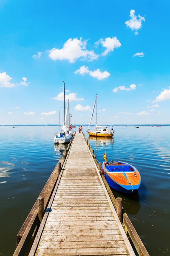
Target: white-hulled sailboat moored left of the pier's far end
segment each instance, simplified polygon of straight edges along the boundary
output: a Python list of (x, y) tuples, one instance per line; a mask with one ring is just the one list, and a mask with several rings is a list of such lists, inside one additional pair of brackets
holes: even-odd
[[(60, 118), (59, 118), (60, 119)], [(60, 125), (59, 125), (60, 128)], [(65, 113), (65, 83), (64, 83), (64, 123), (62, 129), (58, 134), (54, 136), (54, 143), (56, 144), (65, 144), (69, 143), (72, 139), (72, 134), (70, 133), (70, 105), (68, 99), (68, 105)]]

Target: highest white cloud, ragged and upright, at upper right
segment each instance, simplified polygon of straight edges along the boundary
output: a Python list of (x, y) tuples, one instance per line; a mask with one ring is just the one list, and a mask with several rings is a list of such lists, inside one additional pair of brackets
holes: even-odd
[(138, 35), (138, 30), (142, 28), (142, 20), (145, 21), (144, 17), (135, 15), (135, 10), (130, 11), (130, 20), (125, 22), (127, 28), (130, 28), (132, 31), (135, 31), (135, 35)]

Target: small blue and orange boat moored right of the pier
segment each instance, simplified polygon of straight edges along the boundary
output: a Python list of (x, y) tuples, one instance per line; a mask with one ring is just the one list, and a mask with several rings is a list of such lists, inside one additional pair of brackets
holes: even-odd
[(124, 192), (134, 193), (141, 184), (141, 175), (138, 170), (124, 162), (103, 162), (103, 173), (111, 188)]

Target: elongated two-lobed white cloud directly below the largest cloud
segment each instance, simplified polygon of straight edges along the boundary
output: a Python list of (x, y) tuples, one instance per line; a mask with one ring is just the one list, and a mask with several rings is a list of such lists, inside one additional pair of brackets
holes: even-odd
[(91, 71), (88, 70), (88, 67), (82, 66), (78, 70), (74, 72), (75, 74), (80, 74), (84, 76), (85, 74), (89, 74), (90, 76), (97, 78), (98, 80), (103, 80), (108, 78), (111, 74), (108, 71), (101, 72), (99, 69)]

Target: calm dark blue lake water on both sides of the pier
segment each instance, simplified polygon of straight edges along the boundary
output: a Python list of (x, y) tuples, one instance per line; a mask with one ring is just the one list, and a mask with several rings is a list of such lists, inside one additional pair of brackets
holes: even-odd
[[(78, 127), (78, 126), (77, 126)], [(84, 126), (84, 133), (87, 126)], [(89, 137), (96, 158), (125, 161), (142, 177), (137, 195), (114, 192), (151, 256), (170, 255), (170, 126), (114, 126), (114, 139)], [(54, 147), (55, 126), (0, 126), (0, 255), (16, 236), (67, 145)]]

